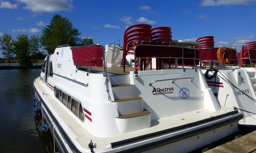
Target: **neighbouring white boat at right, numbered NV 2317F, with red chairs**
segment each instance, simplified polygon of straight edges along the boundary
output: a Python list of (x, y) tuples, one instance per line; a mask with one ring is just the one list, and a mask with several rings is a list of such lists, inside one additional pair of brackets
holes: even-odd
[[(238, 65), (239, 59), (241, 65), (247, 63), (253, 66), (256, 59), (256, 43), (246, 43), (241, 51), (241, 56), (238, 57), (236, 47), (215, 48), (213, 36), (199, 38), (197, 42), (207, 42), (207, 40), (210, 43), (201, 44), (197, 48), (201, 62), (208, 62), (210, 68), (213, 68), (206, 70), (202, 67), (201, 70), (208, 86), (221, 106), (234, 107), (242, 112), (244, 119), (241, 119), (239, 124), (256, 125), (256, 69), (225, 66), (226, 61), (229, 61), (226, 63), (227, 65)], [(229, 54), (229, 57), (219, 54), (220, 50), (226, 55)], [(214, 65), (216, 63), (219, 63), (219, 66)]]

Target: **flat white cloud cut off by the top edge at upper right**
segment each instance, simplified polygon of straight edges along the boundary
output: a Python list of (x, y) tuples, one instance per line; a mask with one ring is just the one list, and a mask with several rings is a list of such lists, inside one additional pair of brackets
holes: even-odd
[(255, 0), (201, 0), (202, 6), (247, 5)]

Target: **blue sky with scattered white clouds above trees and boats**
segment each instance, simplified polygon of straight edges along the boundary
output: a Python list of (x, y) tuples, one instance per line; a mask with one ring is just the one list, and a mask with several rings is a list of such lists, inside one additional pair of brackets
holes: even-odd
[(256, 0), (0, 0), (0, 35), (40, 35), (54, 14), (103, 45), (139, 23), (169, 26), (173, 40), (213, 35), (217, 47), (256, 40)]

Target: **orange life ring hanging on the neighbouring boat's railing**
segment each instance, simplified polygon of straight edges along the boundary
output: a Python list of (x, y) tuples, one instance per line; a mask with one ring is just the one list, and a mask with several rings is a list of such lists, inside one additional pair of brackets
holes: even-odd
[(232, 49), (229, 47), (220, 47), (217, 50), (217, 58), (220, 64), (230, 64)]

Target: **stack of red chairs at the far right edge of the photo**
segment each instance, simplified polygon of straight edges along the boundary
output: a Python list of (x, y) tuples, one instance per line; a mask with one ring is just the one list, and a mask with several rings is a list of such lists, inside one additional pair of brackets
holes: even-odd
[[(254, 57), (254, 54), (252, 53), (249, 54), (249, 51), (251, 50), (256, 50), (256, 42), (247, 42), (246, 44), (243, 45), (242, 50), (240, 51), (240, 60), (241, 60), (240, 66), (243, 66), (244, 64), (251, 64), (250, 59), (256, 59), (256, 57)], [(248, 59), (244, 59), (244, 58), (248, 58)]]

